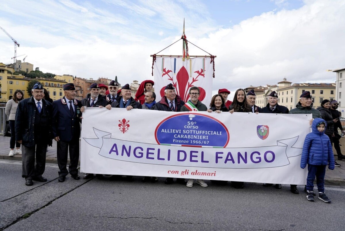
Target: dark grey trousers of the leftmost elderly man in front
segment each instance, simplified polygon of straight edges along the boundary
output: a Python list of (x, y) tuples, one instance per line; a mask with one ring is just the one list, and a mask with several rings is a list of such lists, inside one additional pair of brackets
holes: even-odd
[(48, 144), (36, 144), (33, 147), (22, 145), (22, 177), (25, 180), (40, 177), (44, 173), (47, 146)]

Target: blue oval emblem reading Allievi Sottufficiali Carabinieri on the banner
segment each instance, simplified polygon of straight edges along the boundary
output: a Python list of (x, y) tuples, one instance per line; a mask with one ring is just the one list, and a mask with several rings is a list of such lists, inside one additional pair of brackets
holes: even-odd
[(204, 114), (181, 113), (161, 121), (155, 138), (160, 145), (226, 147), (229, 131), (219, 120)]

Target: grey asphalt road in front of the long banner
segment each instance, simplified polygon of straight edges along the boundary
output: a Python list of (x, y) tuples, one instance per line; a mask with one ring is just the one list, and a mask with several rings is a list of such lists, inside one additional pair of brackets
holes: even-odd
[[(69, 176), (46, 166), (46, 183), (26, 186), (20, 161), (0, 161), (0, 230), (344, 230), (345, 189), (327, 187), (332, 203), (245, 184), (165, 185)], [(81, 175), (82, 176), (82, 175)]]

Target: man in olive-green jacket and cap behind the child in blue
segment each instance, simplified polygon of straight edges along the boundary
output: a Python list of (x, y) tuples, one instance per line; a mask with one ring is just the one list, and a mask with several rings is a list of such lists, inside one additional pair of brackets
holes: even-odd
[[(313, 99), (310, 92), (303, 92), (302, 95), (299, 96), (299, 102), (296, 104), (296, 108), (291, 109), (289, 114), (313, 114), (313, 119), (322, 119), (320, 111), (313, 108), (312, 101)], [(292, 193), (298, 194), (297, 185), (290, 185), (290, 190)]]

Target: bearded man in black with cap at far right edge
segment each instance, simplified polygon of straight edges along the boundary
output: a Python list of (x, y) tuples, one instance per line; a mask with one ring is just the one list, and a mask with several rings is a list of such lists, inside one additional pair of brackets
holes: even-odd
[[(339, 119), (339, 111), (337, 110), (338, 105), (339, 105), (338, 101), (336, 100), (331, 101), (331, 108), (329, 108), (329, 110), (331, 111), (333, 119)], [(345, 135), (345, 131), (343, 129), (343, 126), (340, 120), (334, 123), (334, 137), (332, 140), (334, 144), (334, 149), (337, 151), (338, 160), (342, 160), (342, 159), (345, 159), (345, 156), (342, 154), (340, 150), (339, 139), (341, 138), (341, 136), (338, 133), (338, 128), (342, 131), (342, 135)], [(338, 163), (335, 163), (335, 166), (339, 167), (340, 165)]]

